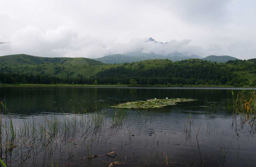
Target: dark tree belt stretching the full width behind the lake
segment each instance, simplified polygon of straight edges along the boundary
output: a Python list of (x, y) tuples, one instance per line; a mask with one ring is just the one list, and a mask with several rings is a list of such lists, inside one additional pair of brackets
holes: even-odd
[[(78, 74), (76, 77), (49, 75), (26, 75), (0, 72), (2, 84), (94, 84), (94, 85), (232, 85), (241, 86), (245, 77), (241, 71), (253, 73), (256, 66), (248, 61), (213, 63), (208, 61), (169, 61), (166, 64), (146, 67), (145, 62), (124, 63), (119, 67), (102, 70), (89, 78)], [(249, 71), (249, 72), (248, 72)], [(132, 81), (132, 83), (131, 83)]]

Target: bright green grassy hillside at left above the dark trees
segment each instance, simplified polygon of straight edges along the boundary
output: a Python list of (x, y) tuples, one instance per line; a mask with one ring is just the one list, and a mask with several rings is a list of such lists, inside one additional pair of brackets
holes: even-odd
[(83, 74), (89, 77), (111, 65), (89, 59), (70, 57), (37, 57), (25, 54), (0, 56), (0, 71), (7, 73), (55, 75), (75, 77)]

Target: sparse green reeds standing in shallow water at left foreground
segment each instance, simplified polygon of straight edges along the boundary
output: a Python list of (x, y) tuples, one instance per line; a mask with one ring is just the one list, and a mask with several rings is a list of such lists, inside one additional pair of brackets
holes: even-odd
[(32, 117), (30, 120), (22, 119), (14, 124), (5, 101), (0, 104), (1, 118), (2, 110), (5, 111), (5, 120), (0, 120), (0, 162), (7, 166), (25, 166), (31, 161), (35, 166), (38, 164), (38, 155), (42, 158), (42, 166), (56, 166), (56, 162), (51, 161), (56, 150), (64, 150), (61, 151), (63, 157), (65, 150), (71, 146), (76, 148), (77, 143), (85, 144), (89, 152), (94, 142), (109, 137), (104, 134), (103, 129), (112, 124), (122, 124), (126, 115), (125, 110), (116, 112), (110, 124), (106, 121), (106, 111), (98, 111), (97, 108), (91, 112), (84, 109), (82, 114), (64, 114), (62, 110), (59, 113), (56, 109), (55, 114), (42, 116), (44, 120), (40, 122), (36, 122)]

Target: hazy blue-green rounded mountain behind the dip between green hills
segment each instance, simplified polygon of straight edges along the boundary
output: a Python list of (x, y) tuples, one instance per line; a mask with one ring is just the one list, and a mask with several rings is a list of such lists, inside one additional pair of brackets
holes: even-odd
[(123, 54), (113, 54), (104, 56), (101, 58), (95, 58), (94, 60), (100, 61), (102, 63), (108, 63), (108, 64), (115, 64), (115, 63), (132, 63), (132, 62), (138, 62), (142, 60), (148, 60), (150, 58), (143, 57), (143, 56), (126, 56)]

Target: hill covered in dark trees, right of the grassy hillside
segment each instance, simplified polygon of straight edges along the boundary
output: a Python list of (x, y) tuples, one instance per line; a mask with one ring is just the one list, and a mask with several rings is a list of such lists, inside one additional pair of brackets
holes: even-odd
[[(126, 65), (127, 66), (127, 65)], [(120, 67), (103, 70), (96, 74), (99, 83), (129, 84), (135, 79), (139, 85), (232, 85), (241, 86), (245, 77), (236, 71), (249, 70), (255, 73), (255, 63), (230, 60), (227, 63), (183, 60), (163, 66), (144, 68)]]

